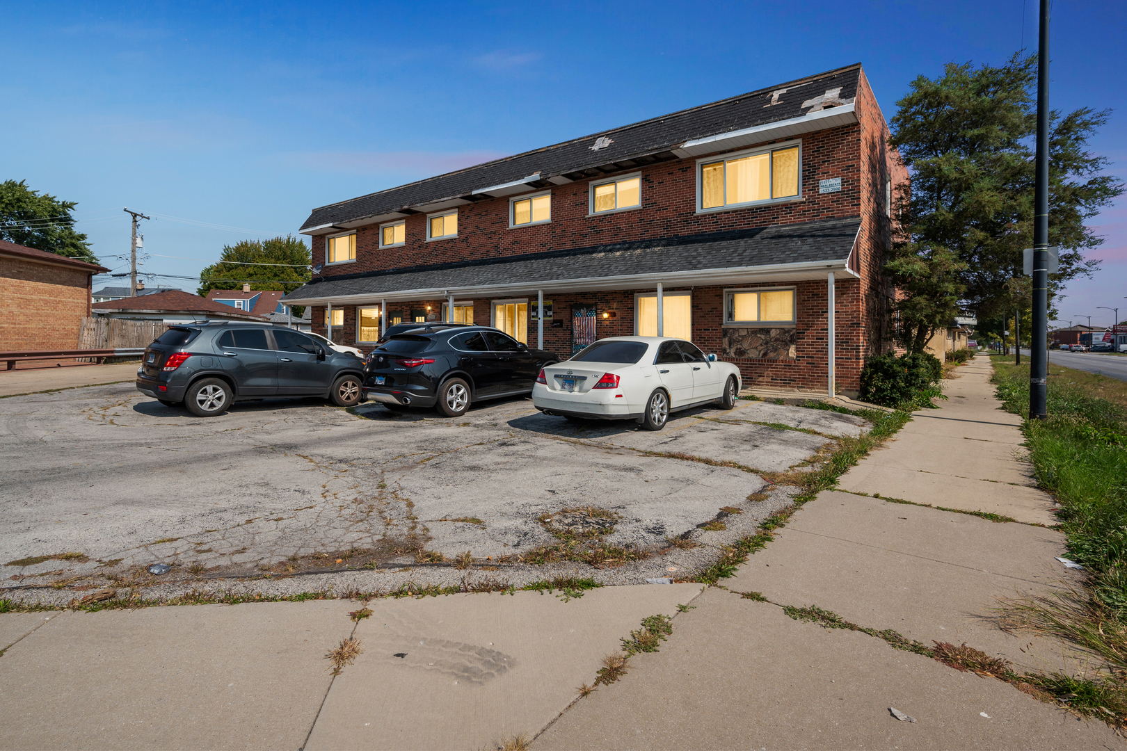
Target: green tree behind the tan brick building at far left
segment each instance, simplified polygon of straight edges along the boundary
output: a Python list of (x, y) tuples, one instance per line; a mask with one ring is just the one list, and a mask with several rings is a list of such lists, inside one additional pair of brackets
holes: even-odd
[(27, 187), (25, 180), (0, 182), (0, 240), (97, 263), (86, 235), (74, 231), (78, 204)]

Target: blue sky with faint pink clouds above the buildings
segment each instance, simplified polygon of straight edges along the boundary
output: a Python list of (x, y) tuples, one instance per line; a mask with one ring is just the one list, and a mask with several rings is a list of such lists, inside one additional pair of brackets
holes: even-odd
[[(1093, 146), (1127, 178), (1125, 20), (1054, 6), (1051, 96), (1120, 107)], [(891, 117), (921, 73), (1033, 50), (1036, 21), (1036, 0), (5, 3), (0, 179), (79, 202), (115, 270), (122, 207), (157, 216), (143, 269), (194, 276), (314, 206), (859, 61)], [(1094, 306), (1127, 310), (1127, 199), (1094, 224), (1102, 270), (1061, 313), (1110, 323)]]

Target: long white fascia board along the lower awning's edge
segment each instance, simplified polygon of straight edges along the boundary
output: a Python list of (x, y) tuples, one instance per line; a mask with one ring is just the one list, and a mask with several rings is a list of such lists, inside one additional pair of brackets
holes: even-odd
[(521, 281), (516, 284), (480, 285), (472, 287), (434, 287), (402, 289), (397, 292), (371, 292), (357, 295), (327, 295), (325, 297), (307, 297), (303, 299), (289, 301), (283, 297), (279, 302), (292, 303), (294, 305), (334, 305), (358, 304), (379, 302), (387, 299), (390, 302), (409, 302), (416, 299), (427, 299), (432, 297), (483, 297), (496, 294), (523, 294), (534, 293), (538, 289), (544, 293), (564, 292), (597, 292), (605, 289), (633, 289), (656, 287), (660, 281), (665, 286), (713, 286), (724, 284), (743, 284), (756, 281), (806, 281), (825, 279), (828, 271), (835, 274), (848, 274), (859, 278), (858, 275), (846, 266), (848, 259), (836, 261), (815, 261), (802, 263), (775, 263), (772, 266), (747, 266), (730, 267), (722, 269), (692, 269), (687, 271), (635, 274), (630, 276), (614, 277), (587, 277), (577, 279), (558, 279), (554, 281)]

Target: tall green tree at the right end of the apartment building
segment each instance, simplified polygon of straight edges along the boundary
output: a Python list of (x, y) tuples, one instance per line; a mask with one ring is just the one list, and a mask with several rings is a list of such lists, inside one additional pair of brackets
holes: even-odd
[[(889, 144), (912, 181), (896, 196), (899, 232), (886, 271), (903, 293), (899, 339), (909, 349), (922, 349), (959, 307), (982, 319), (1015, 302), (1005, 285), (1022, 275), (1022, 250), (1032, 247), (1036, 77), (1032, 55), (999, 66), (951, 63), (937, 79), (916, 78), (896, 102)], [(1102, 175), (1108, 160), (1088, 151), (1108, 115), (1051, 116), (1049, 242), (1061, 247), (1053, 294), (1097, 266), (1082, 251), (1102, 239), (1084, 222), (1124, 191)]]

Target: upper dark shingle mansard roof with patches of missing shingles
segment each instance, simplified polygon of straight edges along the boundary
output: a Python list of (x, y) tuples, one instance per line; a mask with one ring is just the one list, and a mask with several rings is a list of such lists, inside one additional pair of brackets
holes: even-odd
[[(671, 150), (686, 141), (807, 114), (802, 110), (804, 101), (838, 87), (841, 90), (837, 99), (841, 102), (852, 101), (857, 97), (860, 79), (861, 65), (857, 63), (633, 125), (594, 133), (552, 146), (321, 206), (313, 209), (301, 229), (356, 222), (409, 209), (411, 206), (453, 198), (470, 198), (474, 190), (522, 180), (535, 173), (540, 175), (541, 180), (530, 182), (530, 186), (543, 187), (548, 185), (547, 179), (550, 177), (585, 179), (632, 169), (639, 164), (674, 159)], [(788, 92), (773, 96), (781, 89), (788, 89)], [(808, 105), (807, 111), (813, 110)], [(592, 150), (600, 138), (609, 138), (610, 144), (597, 151)]]

